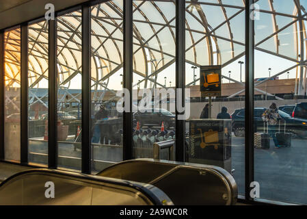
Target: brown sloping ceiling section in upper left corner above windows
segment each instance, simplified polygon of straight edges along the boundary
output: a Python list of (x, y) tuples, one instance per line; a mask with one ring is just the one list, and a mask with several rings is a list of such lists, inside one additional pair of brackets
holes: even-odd
[(55, 5), (55, 12), (89, 0), (1, 0), (0, 29), (44, 16), (46, 3)]

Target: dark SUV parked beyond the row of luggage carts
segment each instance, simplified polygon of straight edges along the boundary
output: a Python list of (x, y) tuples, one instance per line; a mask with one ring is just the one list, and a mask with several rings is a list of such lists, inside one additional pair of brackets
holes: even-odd
[(134, 123), (139, 122), (139, 126), (148, 127), (161, 126), (162, 122), (165, 129), (175, 127), (175, 115), (164, 109), (150, 109), (150, 112), (135, 112), (133, 114)]

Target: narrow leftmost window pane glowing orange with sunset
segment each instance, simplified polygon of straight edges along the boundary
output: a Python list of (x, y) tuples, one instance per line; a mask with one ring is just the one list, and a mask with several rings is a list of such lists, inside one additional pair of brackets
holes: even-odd
[(21, 29), (4, 34), (5, 58), (5, 159), (21, 157)]

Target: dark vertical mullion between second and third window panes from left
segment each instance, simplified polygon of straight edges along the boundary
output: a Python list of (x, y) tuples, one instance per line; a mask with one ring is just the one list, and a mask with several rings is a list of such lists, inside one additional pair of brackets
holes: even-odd
[(57, 168), (57, 18), (49, 20), (48, 167)]

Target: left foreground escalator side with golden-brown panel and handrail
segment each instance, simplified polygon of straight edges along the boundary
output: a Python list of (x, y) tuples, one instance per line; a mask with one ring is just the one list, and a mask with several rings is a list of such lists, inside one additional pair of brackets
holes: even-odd
[[(46, 197), (46, 182), (54, 183), (54, 198)], [(172, 205), (172, 201), (152, 185), (59, 170), (27, 170), (0, 184), (0, 205), (154, 204)]]

